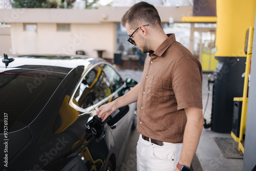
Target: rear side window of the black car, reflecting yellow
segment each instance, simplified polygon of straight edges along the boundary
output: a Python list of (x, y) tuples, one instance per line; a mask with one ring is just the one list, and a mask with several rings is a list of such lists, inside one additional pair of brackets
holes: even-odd
[(102, 68), (96, 66), (87, 75), (86, 80), (93, 98), (93, 103), (97, 103), (111, 95), (111, 88)]

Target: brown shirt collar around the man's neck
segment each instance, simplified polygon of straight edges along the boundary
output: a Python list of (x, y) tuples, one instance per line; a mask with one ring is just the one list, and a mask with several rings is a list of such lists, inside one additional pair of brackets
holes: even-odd
[(175, 34), (167, 34), (168, 38), (162, 42), (162, 44), (157, 48), (157, 50), (151, 51), (149, 53), (149, 56), (156, 57), (156, 56), (162, 56), (162, 54), (167, 50), (167, 48), (176, 41)]

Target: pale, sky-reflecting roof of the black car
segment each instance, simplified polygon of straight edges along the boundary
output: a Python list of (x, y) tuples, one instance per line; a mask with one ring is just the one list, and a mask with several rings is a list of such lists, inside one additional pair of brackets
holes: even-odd
[(88, 68), (92, 63), (104, 61), (100, 58), (93, 58), (84, 55), (9, 55), (14, 58), (8, 66), (0, 62), (0, 72), (9, 69), (45, 70), (68, 74), (73, 68), (84, 66)]

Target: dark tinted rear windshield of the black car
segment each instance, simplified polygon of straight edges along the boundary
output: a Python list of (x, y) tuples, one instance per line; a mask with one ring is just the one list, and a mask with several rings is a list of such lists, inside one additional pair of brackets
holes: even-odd
[(4, 132), (4, 113), (8, 132), (22, 129), (36, 118), (60, 82), (39, 75), (0, 73), (0, 133)]

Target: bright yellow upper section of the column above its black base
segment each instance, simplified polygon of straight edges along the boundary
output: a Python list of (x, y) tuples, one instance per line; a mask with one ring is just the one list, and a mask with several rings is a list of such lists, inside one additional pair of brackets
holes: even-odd
[(215, 56), (246, 57), (245, 33), (254, 26), (255, 0), (217, 0)]

